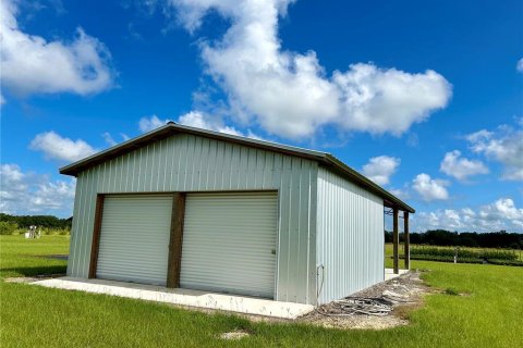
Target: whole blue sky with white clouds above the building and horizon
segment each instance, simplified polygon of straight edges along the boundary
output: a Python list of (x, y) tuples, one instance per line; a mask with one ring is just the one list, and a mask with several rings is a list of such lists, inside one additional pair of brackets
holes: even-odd
[(2, 7), (2, 211), (71, 215), (59, 166), (174, 120), (329, 151), (415, 229), (523, 232), (521, 1)]

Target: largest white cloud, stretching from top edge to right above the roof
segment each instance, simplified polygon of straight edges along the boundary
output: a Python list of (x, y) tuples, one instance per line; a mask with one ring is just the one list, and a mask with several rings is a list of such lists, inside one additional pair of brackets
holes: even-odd
[(278, 21), (292, 1), (171, 0), (195, 33), (216, 11), (230, 21), (220, 40), (200, 41), (206, 73), (226, 91), (234, 116), (288, 138), (333, 125), (345, 130), (400, 135), (445, 108), (451, 85), (434, 72), (411, 74), (356, 63), (329, 75), (314, 51), (283, 50)]

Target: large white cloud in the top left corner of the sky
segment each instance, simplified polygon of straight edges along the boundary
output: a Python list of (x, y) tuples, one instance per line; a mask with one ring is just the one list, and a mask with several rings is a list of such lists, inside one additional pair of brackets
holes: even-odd
[(16, 1), (0, 2), (2, 85), (15, 95), (73, 92), (89, 95), (113, 85), (110, 53), (98, 39), (77, 28), (71, 42), (48, 41), (19, 27)]

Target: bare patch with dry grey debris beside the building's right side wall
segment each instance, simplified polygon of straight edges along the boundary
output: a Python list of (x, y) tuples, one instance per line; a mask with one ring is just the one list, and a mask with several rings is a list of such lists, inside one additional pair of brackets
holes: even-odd
[(422, 306), (427, 286), (412, 271), (344, 299), (318, 307), (302, 322), (336, 328), (385, 330), (409, 324), (408, 313)]

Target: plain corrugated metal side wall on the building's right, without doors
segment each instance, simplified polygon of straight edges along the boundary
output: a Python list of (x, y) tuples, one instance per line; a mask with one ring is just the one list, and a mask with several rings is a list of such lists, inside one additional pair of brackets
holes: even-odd
[(317, 219), (319, 303), (384, 281), (382, 199), (319, 167)]

